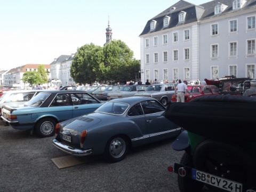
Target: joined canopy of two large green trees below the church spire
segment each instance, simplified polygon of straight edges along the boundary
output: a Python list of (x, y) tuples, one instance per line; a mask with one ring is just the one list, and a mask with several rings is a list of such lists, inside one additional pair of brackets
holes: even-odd
[(139, 60), (133, 59), (131, 49), (120, 40), (104, 47), (86, 44), (80, 47), (73, 59), (70, 74), (78, 83), (94, 81), (134, 80), (140, 70)]

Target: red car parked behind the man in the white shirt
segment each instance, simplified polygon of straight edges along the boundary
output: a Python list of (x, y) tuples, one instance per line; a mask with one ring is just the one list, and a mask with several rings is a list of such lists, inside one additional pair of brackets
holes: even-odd
[[(188, 85), (188, 91), (192, 94), (185, 93), (185, 102), (189, 102), (194, 98), (201, 97), (203, 95), (216, 95), (220, 94), (219, 89), (215, 85)], [(177, 96), (172, 95), (172, 102), (177, 101)]]

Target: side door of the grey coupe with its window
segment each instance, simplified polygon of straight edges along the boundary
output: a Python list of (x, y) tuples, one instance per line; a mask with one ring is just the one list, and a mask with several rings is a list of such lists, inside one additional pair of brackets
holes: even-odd
[(177, 125), (165, 118), (165, 108), (156, 100), (141, 102), (145, 114), (146, 129), (150, 134), (150, 141), (157, 141), (177, 134)]

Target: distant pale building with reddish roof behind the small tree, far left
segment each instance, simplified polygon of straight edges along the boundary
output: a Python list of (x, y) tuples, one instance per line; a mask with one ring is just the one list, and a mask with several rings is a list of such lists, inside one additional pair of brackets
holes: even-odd
[(20, 89), (26, 89), (27, 86), (29, 86), (29, 84), (25, 84), (22, 82), (23, 74), (26, 73), (27, 71), (37, 71), (38, 67), (41, 65), (44, 65), (45, 70), (49, 74), (49, 78), (51, 78), (50, 65), (27, 64), (27, 65), (16, 67), (7, 71), (7, 73), (4, 75), (4, 85), (19, 87)]

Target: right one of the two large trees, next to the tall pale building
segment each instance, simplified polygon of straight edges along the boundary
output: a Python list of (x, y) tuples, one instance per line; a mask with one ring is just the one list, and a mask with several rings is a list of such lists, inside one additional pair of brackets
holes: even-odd
[(140, 64), (133, 59), (133, 51), (121, 40), (113, 40), (103, 47), (104, 65), (100, 65), (102, 77), (106, 80), (135, 80)]

